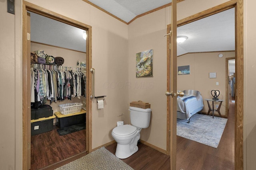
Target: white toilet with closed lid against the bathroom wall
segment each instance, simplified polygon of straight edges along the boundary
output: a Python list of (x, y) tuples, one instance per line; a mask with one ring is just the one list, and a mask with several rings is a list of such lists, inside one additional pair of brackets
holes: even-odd
[(120, 159), (128, 158), (138, 151), (140, 131), (148, 128), (150, 123), (151, 109), (130, 107), (129, 110), (132, 125), (122, 125), (112, 130), (112, 137), (117, 143), (116, 156)]

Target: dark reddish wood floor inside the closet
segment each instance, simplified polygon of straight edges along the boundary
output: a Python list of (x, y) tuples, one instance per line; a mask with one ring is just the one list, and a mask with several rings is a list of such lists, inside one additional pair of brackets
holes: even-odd
[(58, 127), (31, 137), (31, 170), (70, 158), (86, 150), (86, 130), (60, 136)]

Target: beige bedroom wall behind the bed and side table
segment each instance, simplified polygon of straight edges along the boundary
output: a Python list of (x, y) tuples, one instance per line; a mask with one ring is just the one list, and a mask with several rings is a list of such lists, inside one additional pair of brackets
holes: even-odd
[[(219, 99), (226, 100), (226, 58), (235, 57), (234, 52), (222, 53), (192, 53), (178, 57), (177, 66), (190, 65), (190, 74), (177, 76), (178, 90), (198, 90), (204, 99), (211, 99), (211, 90), (219, 90)], [(216, 72), (216, 78), (209, 78), (210, 72)], [(219, 85), (216, 85), (216, 82)], [(220, 104), (220, 102), (215, 102)], [(210, 102), (212, 106), (212, 102)], [(220, 113), (225, 115), (226, 103), (222, 102)], [(203, 112), (208, 112), (208, 104), (204, 100)]]

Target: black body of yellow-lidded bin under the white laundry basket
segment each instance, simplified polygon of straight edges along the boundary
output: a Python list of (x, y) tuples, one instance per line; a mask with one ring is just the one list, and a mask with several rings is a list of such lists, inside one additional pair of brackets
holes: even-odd
[(78, 125), (86, 122), (86, 114), (72, 115), (68, 117), (56, 117), (57, 126), (59, 128), (68, 127), (72, 125)]

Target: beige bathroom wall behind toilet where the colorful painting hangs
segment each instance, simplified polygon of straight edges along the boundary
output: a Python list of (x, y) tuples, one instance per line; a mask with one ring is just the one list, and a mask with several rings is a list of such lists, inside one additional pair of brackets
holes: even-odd
[[(166, 150), (166, 10), (136, 19), (128, 25), (128, 103), (151, 104), (151, 121), (141, 139)], [(136, 53), (153, 49), (153, 77), (136, 78)]]

